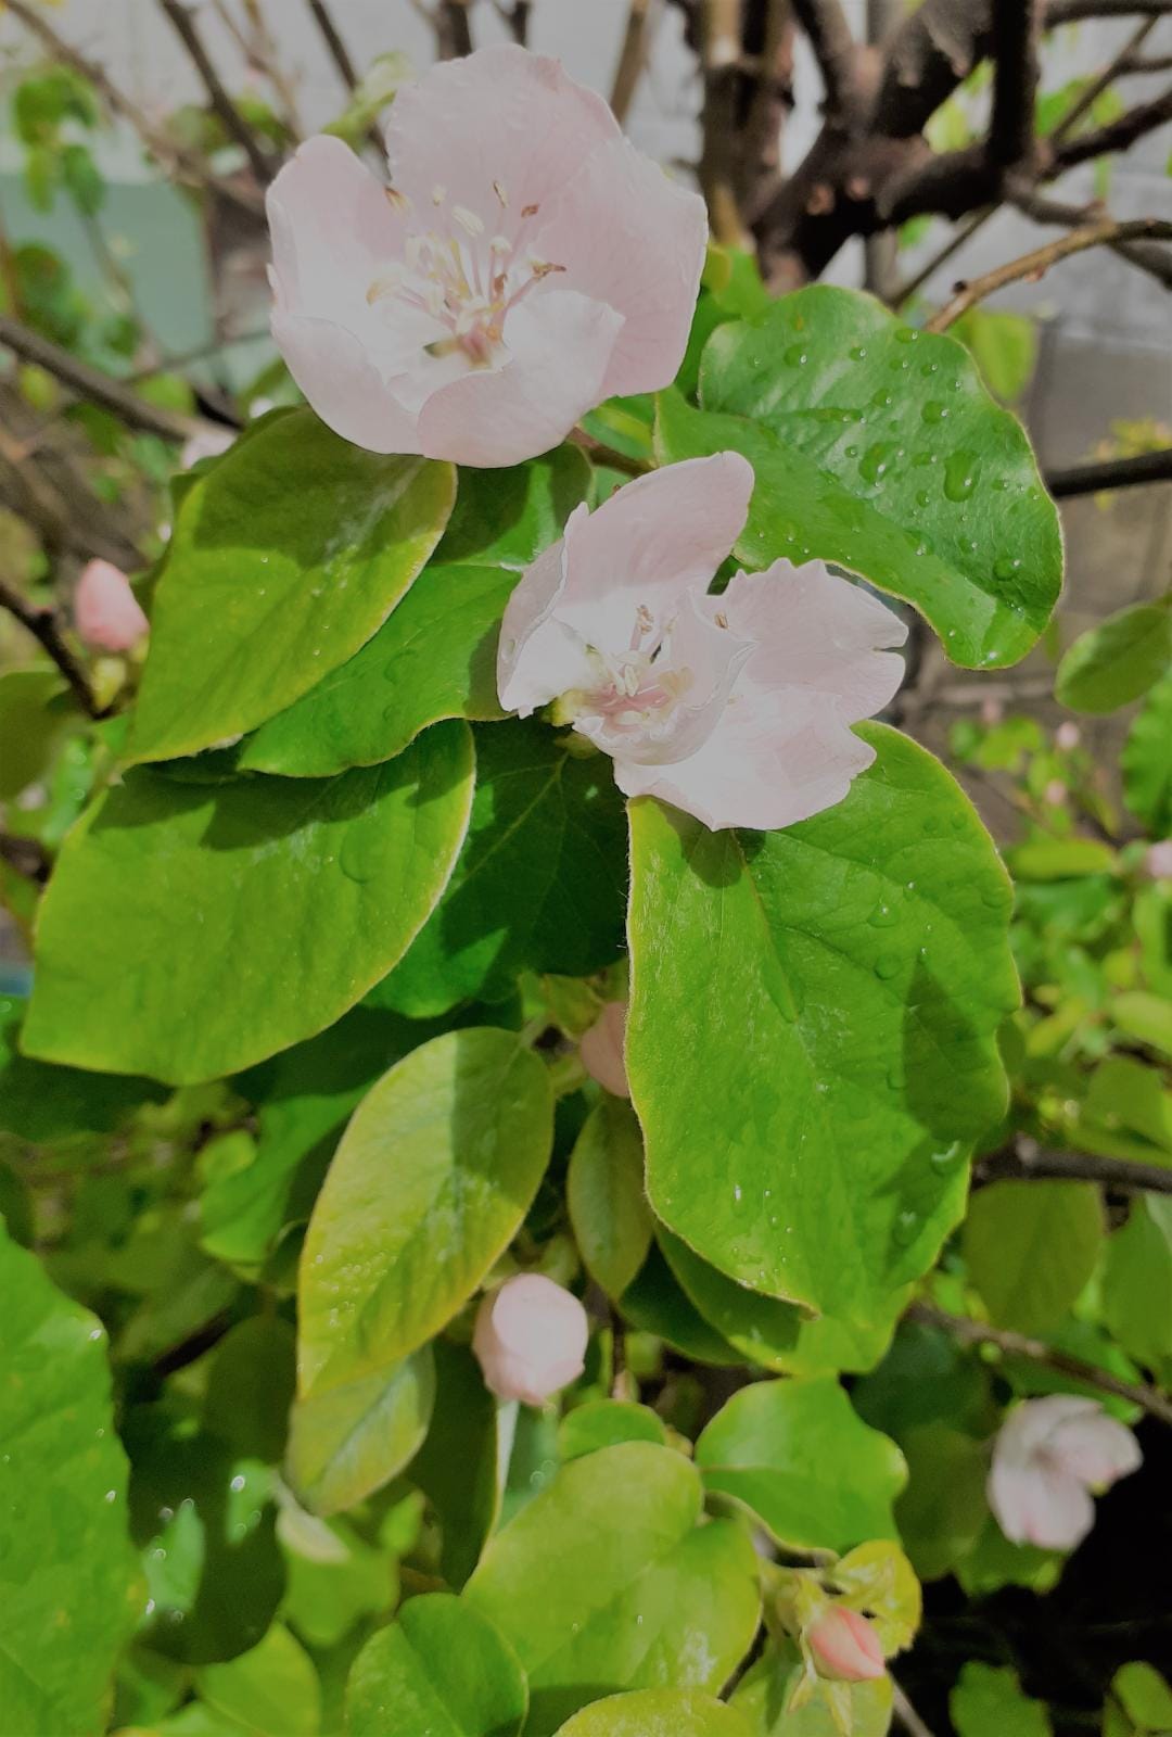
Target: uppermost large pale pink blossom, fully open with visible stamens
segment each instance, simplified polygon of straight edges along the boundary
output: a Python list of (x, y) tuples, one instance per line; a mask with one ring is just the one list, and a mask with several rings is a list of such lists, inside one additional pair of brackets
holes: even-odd
[(273, 335), (332, 429), (517, 464), (675, 377), (703, 200), (557, 61), (500, 45), (434, 66), (396, 96), (387, 149), (391, 193), (318, 137), (267, 196)]

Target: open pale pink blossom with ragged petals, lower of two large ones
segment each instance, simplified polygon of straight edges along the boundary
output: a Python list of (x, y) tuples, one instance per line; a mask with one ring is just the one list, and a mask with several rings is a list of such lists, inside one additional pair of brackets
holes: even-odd
[(851, 733), (892, 697), (906, 627), (821, 561), (708, 582), (754, 488), (734, 452), (688, 459), (576, 507), (512, 592), (497, 686), (554, 703), (627, 796), (707, 827), (788, 827), (840, 802), (873, 752)]

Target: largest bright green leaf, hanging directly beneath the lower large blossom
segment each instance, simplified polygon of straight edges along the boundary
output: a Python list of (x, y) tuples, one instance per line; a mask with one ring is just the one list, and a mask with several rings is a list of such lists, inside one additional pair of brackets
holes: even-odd
[(962, 1214), (1019, 992), (976, 813), (924, 749), (859, 735), (877, 764), (785, 832), (630, 804), (627, 1072), (658, 1218), (868, 1329)]

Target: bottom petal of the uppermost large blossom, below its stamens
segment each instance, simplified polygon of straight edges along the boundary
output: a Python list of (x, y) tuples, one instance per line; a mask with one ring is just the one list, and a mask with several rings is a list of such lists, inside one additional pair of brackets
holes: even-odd
[(476, 368), (422, 406), (429, 459), (523, 464), (566, 438), (597, 405), (622, 314), (575, 290), (543, 290), (509, 314), (502, 368)]

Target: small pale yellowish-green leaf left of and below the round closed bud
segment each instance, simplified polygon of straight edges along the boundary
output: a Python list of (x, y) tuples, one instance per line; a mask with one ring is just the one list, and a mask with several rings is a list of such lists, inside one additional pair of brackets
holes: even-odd
[(295, 1402), (288, 1482), (316, 1515), (340, 1513), (389, 1483), (427, 1435), (436, 1370), (427, 1346), (373, 1374)]

